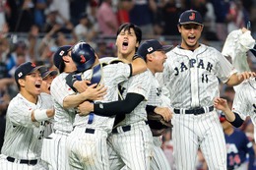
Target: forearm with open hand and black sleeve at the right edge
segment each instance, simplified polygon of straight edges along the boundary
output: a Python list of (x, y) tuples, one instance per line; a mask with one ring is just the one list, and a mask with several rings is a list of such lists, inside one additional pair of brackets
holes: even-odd
[(224, 112), (224, 116), (226, 120), (234, 127), (238, 128), (242, 125), (243, 120), (241, 117), (230, 110), (227, 105), (227, 101), (224, 98), (217, 97), (214, 100), (214, 106), (218, 110), (222, 110)]

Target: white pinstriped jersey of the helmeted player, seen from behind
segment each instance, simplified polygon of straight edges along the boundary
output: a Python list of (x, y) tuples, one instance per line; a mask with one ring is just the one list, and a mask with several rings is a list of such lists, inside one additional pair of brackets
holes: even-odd
[[(101, 102), (109, 102), (118, 100), (118, 84), (127, 81), (131, 73), (129, 65), (124, 63), (110, 64), (103, 67), (102, 82), (101, 84), (107, 87), (106, 95), (104, 100)], [(88, 70), (83, 73), (83, 79), (90, 79), (92, 76), (92, 70)], [(89, 116), (79, 116), (76, 115), (75, 126), (86, 126), (94, 129), (104, 129), (111, 132), (114, 116), (113, 117), (103, 117), (94, 115), (94, 121), (92, 124), (87, 124)]]

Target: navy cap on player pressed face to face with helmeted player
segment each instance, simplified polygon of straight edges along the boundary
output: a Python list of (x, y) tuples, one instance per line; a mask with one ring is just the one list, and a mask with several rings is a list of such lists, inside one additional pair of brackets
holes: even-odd
[(69, 50), (71, 50), (71, 47), (72, 47), (71, 45), (61, 46), (53, 54), (53, 63), (59, 70), (62, 69), (62, 65), (64, 64), (62, 57), (68, 54)]

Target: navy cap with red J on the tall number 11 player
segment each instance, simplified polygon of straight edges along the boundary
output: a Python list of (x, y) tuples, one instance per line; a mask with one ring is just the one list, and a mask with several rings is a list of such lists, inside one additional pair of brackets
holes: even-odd
[(203, 18), (198, 11), (187, 10), (184, 11), (178, 20), (179, 25), (196, 24), (203, 26)]

